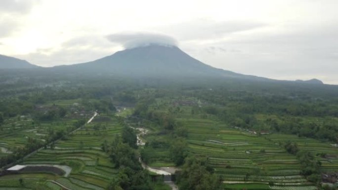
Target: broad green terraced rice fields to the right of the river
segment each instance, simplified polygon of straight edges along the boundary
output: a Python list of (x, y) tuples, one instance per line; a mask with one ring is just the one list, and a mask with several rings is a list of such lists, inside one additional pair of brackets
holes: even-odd
[[(206, 155), (216, 174), (227, 182), (260, 182), (290, 186), (272, 186), (281, 190), (311, 190), (306, 179), (299, 175), (300, 163), (296, 156), (285, 152), (279, 142), (288, 139), (297, 142), (300, 150), (326, 152), (338, 156), (338, 150), (327, 143), (302, 139), (292, 135), (272, 134), (256, 136), (252, 133), (229, 128), (208, 119), (178, 119), (189, 130), (189, 152)], [(311, 148), (309, 148), (311, 147)], [(337, 158), (336, 158), (337, 159)], [(337, 160), (323, 161), (323, 169), (338, 170)], [(239, 185), (245, 188), (243, 185)]]

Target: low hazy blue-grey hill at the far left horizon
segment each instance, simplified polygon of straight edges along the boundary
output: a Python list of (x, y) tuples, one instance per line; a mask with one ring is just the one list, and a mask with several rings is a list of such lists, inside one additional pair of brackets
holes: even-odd
[(30, 64), (25, 60), (0, 55), (0, 69), (32, 69), (32, 68), (39, 68), (39, 66)]

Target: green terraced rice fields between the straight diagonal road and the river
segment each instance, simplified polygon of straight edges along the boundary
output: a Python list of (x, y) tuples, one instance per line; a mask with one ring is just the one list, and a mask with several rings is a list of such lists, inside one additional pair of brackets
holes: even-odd
[[(109, 118), (109, 122), (101, 122), (100, 118), (102, 117)], [(93, 126), (95, 125), (104, 127), (94, 130)], [(52, 181), (72, 190), (105, 190), (118, 171), (114, 168), (109, 156), (101, 151), (101, 144), (105, 140), (110, 142), (112, 137), (119, 134), (121, 130), (122, 127), (114, 117), (98, 116), (92, 123), (77, 130), (67, 139), (55, 143), (54, 149), (48, 147), (20, 164), (67, 165), (72, 168), (70, 175), (68, 177), (56, 176)], [(35, 175), (37, 176), (35, 177)], [(30, 177), (40, 179), (41, 176), (38, 173), (32, 173)], [(54, 185), (49, 184), (48, 186)], [(59, 188), (59, 186), (57, 187)]]

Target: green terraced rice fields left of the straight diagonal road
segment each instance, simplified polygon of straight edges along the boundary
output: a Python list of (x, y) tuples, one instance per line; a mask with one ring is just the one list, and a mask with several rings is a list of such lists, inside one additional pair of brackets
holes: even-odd
[(17, 148), (23, 148), (28, 143), (29, 138), (43, 143), (47, 140), (51, 131), (69, 133), (74, 129), (74, 123), (78, 119), (87, 119), (93, 113), (84, 111), (81, 104), (77, 103), (80, 101), (79, 99), (59, 100), (36, 106), (36, 109), (42, 113), (52, 110), (55, 105), (63, 107), (67, 110), (67, 114), (62, 119), (37, 122), (32, 119), (32, 115), (21, 115), (6, 119), (0, 128), (0, 157), (12, 153)]

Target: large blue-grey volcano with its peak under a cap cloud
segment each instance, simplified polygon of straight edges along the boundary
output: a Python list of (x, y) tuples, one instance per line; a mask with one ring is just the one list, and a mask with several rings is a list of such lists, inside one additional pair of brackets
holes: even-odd
[(213, 68), (194, 59), (176, 46), (162, 45), (126, 49), (95, 61), (56, 68), (67, 68), (82, 72), (109, 73), (121, 76), (255, 77)]

